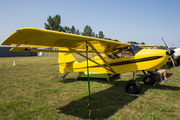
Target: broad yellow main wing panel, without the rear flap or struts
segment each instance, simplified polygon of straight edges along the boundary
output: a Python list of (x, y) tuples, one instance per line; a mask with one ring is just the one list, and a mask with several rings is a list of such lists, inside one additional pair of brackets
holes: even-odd
[[(93, 37), (38, 29), (21, 28), (12, 33), (2, 45), (45, 47), (45, 48), (69, 48), (86, 50), (86, 41), (92, 44), (98, 51), (112, 51), (117, 48), (130, 46), (130, 44), (98, 39)], [(90, 48), (89, 51), (92, 49)]]

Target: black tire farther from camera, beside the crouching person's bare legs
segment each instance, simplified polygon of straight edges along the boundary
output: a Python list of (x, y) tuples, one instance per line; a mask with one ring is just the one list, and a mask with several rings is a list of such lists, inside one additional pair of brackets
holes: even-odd
[(156, 78), (153, 74), (148, 73), (143, 77), (143, 82), (145, 85), (154, 85), (156, 83)]

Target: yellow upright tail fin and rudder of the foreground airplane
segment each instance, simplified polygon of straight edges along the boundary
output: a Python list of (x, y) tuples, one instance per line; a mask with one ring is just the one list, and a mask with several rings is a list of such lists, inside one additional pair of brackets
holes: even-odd
[(60, 73), (72, 72), (73, 63), (75, 61), (76, 61), (76, 59), (74, 58), (74, 56), (71, 53), (59, 52), (59, 59), (58, 59), (59, 72)]

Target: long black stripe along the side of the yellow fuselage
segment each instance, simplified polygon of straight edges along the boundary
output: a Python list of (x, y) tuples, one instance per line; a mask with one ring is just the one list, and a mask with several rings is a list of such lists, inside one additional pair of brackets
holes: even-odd
[[(145, 61), (150, 61), (150, 60), (156, 60), (161, 57), (163, 57), (163, 56), (146, 57), (146, 58), (140, 58), (140, 59), (135, 59), (135, 60), (127, 60), (127, 61), (109, 63), (109, 65), (110, 66), (118, 66), (118, 65), (125, 65), (125, 64), (131, 64), (131, 63), (145, 62)], [(106, 64), (102, 64), (102, 66), (107, 67)], [(94, 68), (94, 67), (100, 67), (100, 66), (99, 65), (89, 66), (89, 68)], [(86, 67), (82, 67), (82, 68), (86, 68)], [(75, 69), (82, 69), (82, 68), (75, 68)]]

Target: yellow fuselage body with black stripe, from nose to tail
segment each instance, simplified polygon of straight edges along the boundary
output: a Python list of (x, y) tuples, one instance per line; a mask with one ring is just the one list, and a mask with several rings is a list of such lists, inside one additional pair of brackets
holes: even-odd
[[(109, 57), (104, 56), (103, 58), (108, 62), (116, 74), (119, 74), (131, 71), (150, 71), (153, 69), (158, 69), (159, 67), (162, 67), (169, 58), (169, 56), (166, 55), (166, 52), (166, 50), (160, 49), (142, 49), (134, 56), (126, 56), (116, 59), (110, 59)], [(107, 64), (105, 64), (98, 56), (93, 58), (93, 60), (99, 63), (101, 66), (88, 60), (89, 72), (114, 74), (112, 71), (107, 70)], [(60, 65), (60, 67), (62, 66), (63, 65)], [(102, 66), (106, 67), (107, 69)], [(61, 69), (60, 72), (87, 72), (87, 61), (64, 64), (64, 69)]]

